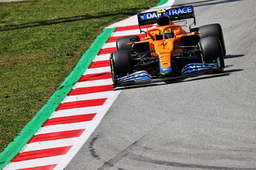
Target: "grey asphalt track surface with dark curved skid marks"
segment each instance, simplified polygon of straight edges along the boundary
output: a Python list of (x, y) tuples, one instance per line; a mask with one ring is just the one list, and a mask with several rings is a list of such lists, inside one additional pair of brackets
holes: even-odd
[(124, 88), (69, 169), (256, 169), (255, 0), (176, 0), (220, 23), (225, 72)]

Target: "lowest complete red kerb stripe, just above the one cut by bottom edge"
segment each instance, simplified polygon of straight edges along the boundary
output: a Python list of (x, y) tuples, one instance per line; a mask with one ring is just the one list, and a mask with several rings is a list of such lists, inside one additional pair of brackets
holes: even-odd
[(18, 153), (11, 162), (20, 162), (23, 160), (31, 160), (35, 158), (54, 157), (58, 155), (65, 155), (72, 146), (65, 146), (60, 148), (51, 148), (36, 151), (24, 151)]

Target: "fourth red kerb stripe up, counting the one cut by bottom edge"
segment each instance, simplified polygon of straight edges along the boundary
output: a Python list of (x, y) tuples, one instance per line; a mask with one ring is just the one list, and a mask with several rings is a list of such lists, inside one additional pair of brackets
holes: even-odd
[(81, 114), (76, 116), (65, 116), (61, 118), (52, 118), (42, 125), (42, 127), (51, 126), (51, 125), (61, 125), (61, 124), (67, 124), (67, 123), (79, 123), (83, 121), (91, 121), (93, 120), (96, 113), (92, 114)]

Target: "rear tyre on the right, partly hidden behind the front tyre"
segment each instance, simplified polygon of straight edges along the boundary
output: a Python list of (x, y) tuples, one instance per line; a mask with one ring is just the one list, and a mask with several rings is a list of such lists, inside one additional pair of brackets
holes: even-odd
[(202, 33), (200, 34), (200, 38), (205, 38), (208, 36), (218, 37), (221, 43), (223, 56), (226, 56), (226, 47), (225, 47), (223, 32), (220, 24), (209, 24), (209, 25), (198, 27), (198, 32)]

